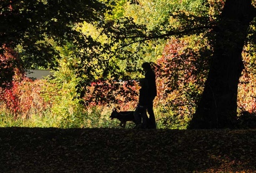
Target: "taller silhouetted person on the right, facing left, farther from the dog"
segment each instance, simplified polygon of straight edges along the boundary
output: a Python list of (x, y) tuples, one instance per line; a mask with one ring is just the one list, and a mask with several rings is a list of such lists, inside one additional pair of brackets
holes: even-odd
[(149, 122), (148, 122), (148, 128), (156, 128), (156, 119), (155, 114), (153, 111), (153, 101), (157, 95), (156, 93), (156, 75), (154, 71), (151, 69), (151, 65), (148, 62), (144, 62), (141, 67), (143, 68), (143, 71), (145, 71), (145, 78), (148, 80), (148, 114), (149, 114)]

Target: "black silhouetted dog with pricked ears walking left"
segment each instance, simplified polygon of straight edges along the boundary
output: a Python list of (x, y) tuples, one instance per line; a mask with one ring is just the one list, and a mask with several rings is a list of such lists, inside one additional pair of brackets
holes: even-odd
[(135, 123), (133, 113), (134, 111), (117, 112), (116, 108), (114, 108), (109, 118), (111, 118), (111, 120), (117, 118), (119, 121), (121, 121), (119, 126), (125, 128), (127, 121), (133, 121)]

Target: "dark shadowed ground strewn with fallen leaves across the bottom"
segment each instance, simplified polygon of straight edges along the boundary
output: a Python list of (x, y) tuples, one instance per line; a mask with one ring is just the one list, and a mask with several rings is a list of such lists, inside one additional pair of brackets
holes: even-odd
[(256, 130), (0, 128), (0, 172), (256, 172)]

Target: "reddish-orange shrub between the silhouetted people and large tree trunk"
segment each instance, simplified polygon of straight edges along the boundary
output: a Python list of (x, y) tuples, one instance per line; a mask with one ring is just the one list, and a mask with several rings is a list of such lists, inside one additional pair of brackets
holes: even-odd
[(169, 112), (161, 120), (166, 127), (180, 124), (180, 128), (185, 128), (203, 92), (208, 60), (201, 55), (208, 53), (207, 49), (199, 53), (204, 40), (194, 40), (172, 38), (156, 61), (156, 103), (163, 113)]

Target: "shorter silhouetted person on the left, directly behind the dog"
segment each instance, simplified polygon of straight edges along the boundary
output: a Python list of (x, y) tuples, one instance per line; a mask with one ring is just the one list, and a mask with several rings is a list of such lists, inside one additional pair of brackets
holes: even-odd
[[(147, 128), (147, 105), (148, 105), (148, 81), (145, 78), (140, 79), (140, 93), (139, 93), (139, 103), (137, 108), (134, 111), (134, 121), (135, 128)], [(142, 119), (142, 123), (141, 123)]]

